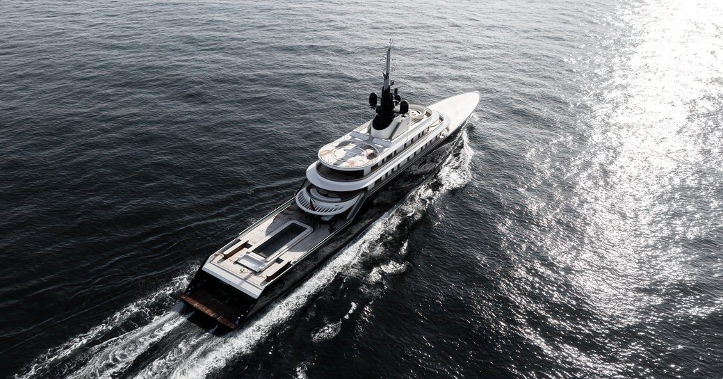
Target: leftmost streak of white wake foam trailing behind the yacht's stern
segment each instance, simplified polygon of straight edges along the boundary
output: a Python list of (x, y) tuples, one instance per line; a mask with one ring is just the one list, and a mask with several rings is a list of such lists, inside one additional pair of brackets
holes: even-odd
[[(188, 282), (188, 273), (176, 276), (175, 278), (171, 279), (168, 284), (162, 286), (156, 291), (153, 291), (153, 293), (150, 293), (147, 296), (142, 297), (141, 299), (138, 299), (130, 303), (129, 305), (126, 305), (114, 315), (111, 315), (111, 317), (103, 320), (103, 322), (99, 325), (91, 328), (90, 331), (74, 336), (61, 346), (50, 349), (48, 350), (48, 352), (41, 354), (39, 357), (35, 358), (35, 360), (33, 360), (33, 362), (30, 363), (30, 365), (27, 366), (25, 370), (22, 370), (20, 373), (14, 375), (14, 378), (32, 379), (45, 377), (48, 370), (50, 370), (52, 367), (61, 364), (61, 362), (64, 362), (64, 360), (72, 357), (74, 354), (80, 352), (82, 349), (98, 343), (98, 341), (100, 341), (103, 336), (106, 336), (108, 333), (111, 333), (111, 331), (114, 331), (119, 325), (124, 323), (126, 320), (129, 320), (129, 318), (132, 318), (142, 312), (149, 312), (149, 307), (158, 304), (158, 302), (161, 302), (164, 297), (168, 296), (168, 293), (178, 291), (179, 289), (184, 288), (188, 285)], [(173, 312), (168, 314), (171, 315), (173, 314)], [(116, 337), (114, 339), (118, 339), (121, 337), (122, 336)], [(108, 341), (103, 342), (100, 345), (107, 343)], [(93, 346), (93, 348), (91, 349), (97, 350), (98, 346)]]

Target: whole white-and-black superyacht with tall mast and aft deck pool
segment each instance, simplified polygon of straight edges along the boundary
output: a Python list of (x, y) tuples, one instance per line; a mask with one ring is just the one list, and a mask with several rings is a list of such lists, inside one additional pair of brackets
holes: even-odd
[(237, 328), (437, 172), (479, 93), (410, 104), (393, 87), (391, 53), (381, 95), (369, 95), (373, 119), (322, 146), (293, 197), (205, 258), (185, 303)]

